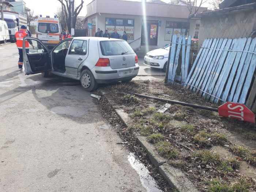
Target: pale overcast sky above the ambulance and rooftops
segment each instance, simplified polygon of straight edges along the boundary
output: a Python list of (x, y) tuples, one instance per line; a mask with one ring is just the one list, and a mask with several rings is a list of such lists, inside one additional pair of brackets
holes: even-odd
[[(84, 0), (84, 6), (81, 10), (79, 16), (86, 16), (86, 5), (89, 4), (92, 0)], [(141, 0), (130, 0), (130, 1), (141, 1)], [(170, 0), (162, 0), (166, 3), (169, 3)], [(208, 0), (209, 1), (209, 0)], [(34, 10), (35, 15), (42, 15), (46, 16), (49, 15), (50, 17), (54, 16), (54, 13), (57, 12), (57, 8), (61, 7), (61, 4), (57, 0), (25, 0), (26, 7)], [(44, 3), (42, 3), (44, 2)], [(80, 0), (75, 0), (75, 3), (79, 4)], [(208, 3), (204, 3), (203, 7), (209, 7)]]

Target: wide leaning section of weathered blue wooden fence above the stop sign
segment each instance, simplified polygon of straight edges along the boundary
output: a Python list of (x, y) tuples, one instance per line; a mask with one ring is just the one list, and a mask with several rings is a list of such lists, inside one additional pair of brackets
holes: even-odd
[(256, 110), (256, 38), (205, 39), (185, 81), (208, 101)]

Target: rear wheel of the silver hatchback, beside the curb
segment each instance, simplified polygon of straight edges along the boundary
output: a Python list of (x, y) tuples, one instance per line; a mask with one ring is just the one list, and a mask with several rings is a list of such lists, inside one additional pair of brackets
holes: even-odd
[(86, 91), (94, 91), (98, 87), (98, 83), (95, 81), (93, 74), (88, 69), (84, 69), (81, 72), (80, 82), (83, 89)]

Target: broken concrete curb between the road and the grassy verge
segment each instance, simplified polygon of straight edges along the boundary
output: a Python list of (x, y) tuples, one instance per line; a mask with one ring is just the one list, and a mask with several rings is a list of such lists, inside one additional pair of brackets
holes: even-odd
[[(99, 90), (102, 96), (105, 95), (105, 92)], [(128, 114), (124, 112), (123, 109), (117, 109), (112, 106), (111, 102), (107, 97), (105, 99), (108, 101), (112, 109), (116, 112), (117, 116), (121, 119), (126, 127), (132, 122), (132, 120), (128, 117)], [(144, 136), (138, 136), (134, 134), (134, 136), (138, 139), (140, 146), (146, 150), (148, 158), (151, 163), (159, 169), (159, 172), (169, 183), (170, 187), (173, 189), (177, 189), (179, 192), (198, 192), (195, 185), (188, 180), (185, 174), (180, 170), (173, 166), (170, 166), (166, 163), (165, 159), (159, 156), (155, 150), (154, 145), (147, 142), (147, 138)]]

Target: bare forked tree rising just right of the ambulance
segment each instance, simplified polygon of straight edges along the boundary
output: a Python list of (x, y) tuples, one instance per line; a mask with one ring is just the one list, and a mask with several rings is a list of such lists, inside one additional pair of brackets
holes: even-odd
[[(72, 12), (71, 0), (57, 0), (57, 1), (59, 1), (61, 3), (61, 5), (63, 6), (63, 12), (64, 12), (63, 15), (65, 16), (65, 21), (67, 23), (68, 31), (71, 32), (71, 28), (75, 28), (76, 18), (83, 8), (84, 1), (81, 0), (81, 3), (75, 8), (74, 15), (71, 14), (71, 12)], [(71, 22), (71, 18), (73, 18), (72, 22)], [(73, 26), (71, 26), (71, 23), (73, 23)]]

